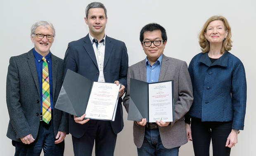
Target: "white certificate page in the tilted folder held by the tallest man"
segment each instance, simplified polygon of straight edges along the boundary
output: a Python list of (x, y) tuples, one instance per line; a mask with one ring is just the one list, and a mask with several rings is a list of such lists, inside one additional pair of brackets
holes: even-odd
[(113, 120), (116, 116), (120, 87), (121, 85), (116, 85), (116, 83), (94, 82), (85, 118)]

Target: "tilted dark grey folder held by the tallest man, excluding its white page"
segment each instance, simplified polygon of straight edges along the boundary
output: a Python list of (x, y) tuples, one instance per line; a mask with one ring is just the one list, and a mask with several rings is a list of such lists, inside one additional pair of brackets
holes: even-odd
[[(93, 81), (68, 69), (55, 108), (81, 117), (85, 114), (92, 85)], [(116, 106), (118, 100), (119, 94), (117, 96)], [(115, 112), (116, 108), (111, 121), (115, 119)]]

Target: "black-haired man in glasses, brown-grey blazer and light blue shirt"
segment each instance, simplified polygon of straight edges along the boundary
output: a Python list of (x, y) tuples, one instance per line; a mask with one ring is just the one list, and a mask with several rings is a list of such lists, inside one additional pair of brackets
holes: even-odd
[(149, 123), (146, 119), (133, 124), (133, 138), (138, 156), (178, 156), (179, 147), (187, 143), (184, 115), (193, 101), (192, 84), (184, 61), (166, 57), (166, 30), (150, 23), (140, 31), (146, 59), (130, 66), (127, 73), (127, 92), (123, 105), (128, 112), (130, 78), (148, 83), (174, 80), (175, 121)]

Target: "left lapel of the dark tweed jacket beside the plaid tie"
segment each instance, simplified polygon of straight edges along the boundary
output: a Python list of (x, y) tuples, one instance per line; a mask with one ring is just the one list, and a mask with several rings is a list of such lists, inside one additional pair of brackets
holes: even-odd
[(36, 87), (37, 87), (37, 90), (38, 90), (38, 95), (40, 95), (40, 87), (39, 87), (38, 74), (37, 74), (37, 70), (36, 70), (36, 62), (35, 62), (35, 57), (34, 57), (34, 54), (33, 54), (33, 49), (31, 49), (28, 52), (28, 66), (30, 68), (33, 79), (35, 81), (35, 84), (36, 84)]

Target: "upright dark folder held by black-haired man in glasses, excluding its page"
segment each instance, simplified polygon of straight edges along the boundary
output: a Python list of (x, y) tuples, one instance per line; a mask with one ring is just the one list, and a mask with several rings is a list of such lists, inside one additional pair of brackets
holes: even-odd
[[(173, 93), (173, 80), (172, 82), (172, 97)], [(168, 81), (161, 81), (156, 83), (163, 83)], [(153, 84), (153, 83), (150, 83)], [(173, 120), (174, 120), (174, 99), (172, 98), (173, 106)], [(146, 118), (149, 121), (149, 83), (130, 78), (130, 100), (128, 120), (141, 121)]]

